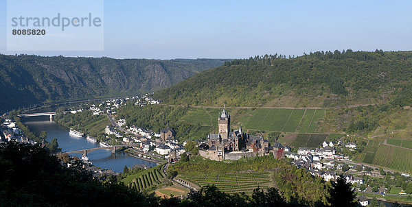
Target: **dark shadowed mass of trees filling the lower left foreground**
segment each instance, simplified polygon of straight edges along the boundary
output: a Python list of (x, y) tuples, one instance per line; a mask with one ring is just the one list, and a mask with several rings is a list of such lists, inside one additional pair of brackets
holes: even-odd
[(0, 206), (149, 206), (154, 199), (93, 179), (80, 161), (61, 165), (38, 145), (0, 144), (0, 171)]

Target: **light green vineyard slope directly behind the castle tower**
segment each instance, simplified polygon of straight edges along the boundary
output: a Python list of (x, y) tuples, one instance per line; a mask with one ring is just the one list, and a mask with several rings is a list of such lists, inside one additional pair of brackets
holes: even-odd
[[(190, 108), (182, 117), (187, 123), (209, 127), (216, 130), (219, 108)], [(268, 132), (317, 132), (317, 123), (325, 115), (324, 109), (284, 109), (284, 108), (247, 108), (230, 110), (231, 123), (242, 125), (244, 129)]]

